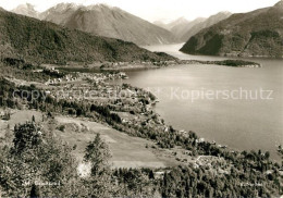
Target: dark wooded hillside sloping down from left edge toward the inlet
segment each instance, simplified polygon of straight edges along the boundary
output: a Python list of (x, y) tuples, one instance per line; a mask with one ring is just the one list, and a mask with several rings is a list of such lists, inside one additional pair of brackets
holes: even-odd
[(36, 63), (95, 61), (162, 61), (174, 58), (152, 53), (135, 44), (91, 36), (50, 22), (0, 10), (0, 58)]

